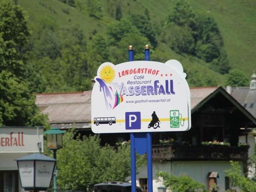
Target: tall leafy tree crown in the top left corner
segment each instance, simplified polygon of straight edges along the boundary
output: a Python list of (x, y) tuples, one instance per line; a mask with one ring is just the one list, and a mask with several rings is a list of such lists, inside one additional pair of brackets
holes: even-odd
[(23, 78), (25, 64), (23, 47), (29, 31), (26, 16), (11, 0), (0, 1), (0, 71), (6, 70)]

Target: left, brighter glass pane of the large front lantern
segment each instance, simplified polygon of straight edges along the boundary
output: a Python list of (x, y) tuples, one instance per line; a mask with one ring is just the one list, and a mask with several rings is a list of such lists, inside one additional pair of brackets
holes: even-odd
[(34, 161), (18, 161), (22, 187), (34, 186)]

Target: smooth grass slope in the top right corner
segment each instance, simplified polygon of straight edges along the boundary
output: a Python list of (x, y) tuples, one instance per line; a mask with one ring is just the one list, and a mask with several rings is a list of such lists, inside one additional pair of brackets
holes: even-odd
[(230, 65), (249, 77), (256, 70), (256, 1), (190, 1), (200, 13), (214, 17), (224, 38)]

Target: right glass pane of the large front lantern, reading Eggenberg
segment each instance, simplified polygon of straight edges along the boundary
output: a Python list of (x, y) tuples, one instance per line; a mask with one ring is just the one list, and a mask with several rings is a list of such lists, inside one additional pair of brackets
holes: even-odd
[(54, 161), (36, 161), (35, 162), (35, 186), (50, 187)]

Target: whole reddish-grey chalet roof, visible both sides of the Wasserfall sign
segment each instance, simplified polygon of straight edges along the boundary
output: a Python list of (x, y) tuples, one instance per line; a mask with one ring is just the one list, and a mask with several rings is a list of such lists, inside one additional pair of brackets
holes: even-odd
[[(222, 87), (190, 88), (192, 113), (219, 92), (256, 124), (256, 119)], [(36, 95), (36, 105), (42, 113), (48, 114), (49, 122), (54, 127), (68, 129), (91, 126), (91, 90), (76, 93), (39, 93)]]

